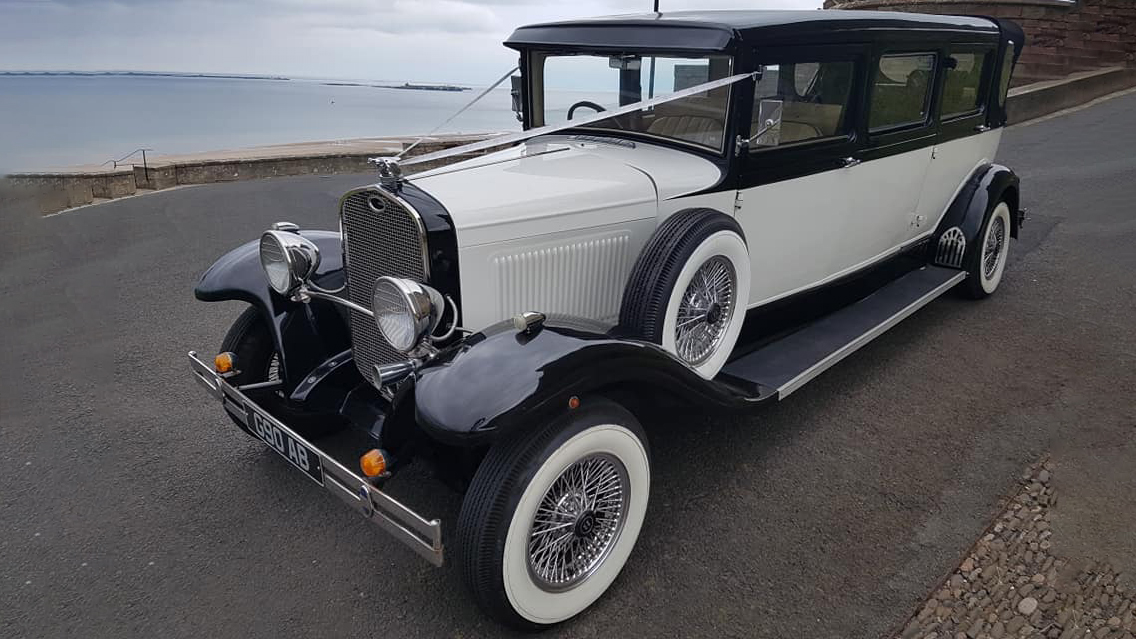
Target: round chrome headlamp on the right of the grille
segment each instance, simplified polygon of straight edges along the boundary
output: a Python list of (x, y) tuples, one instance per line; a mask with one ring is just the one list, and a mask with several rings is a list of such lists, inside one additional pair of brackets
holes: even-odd
[(442, 293), (414, 280), (383, 276), (375, 280), (371, 310), (386, 341), (409, 352), (437, 329), (445, 299)]

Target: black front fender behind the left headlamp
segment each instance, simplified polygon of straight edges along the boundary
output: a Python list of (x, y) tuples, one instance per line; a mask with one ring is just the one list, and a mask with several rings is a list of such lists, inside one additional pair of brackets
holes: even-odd
[[(342, 287), (345, 277), (340, 234), (331, 231), (303, 231), (301, 234), (319, 248), (319, 271), (312, 280), (326, 289)], [(268, 320), (276, 352), (281, 356), (281, 374), (289, 387), (348, 348), (346, 327), (334, 305), (319, 300), (294, 302), (268, 287), (260, 266), (259, 240), (223, 255), (201, 275), (193, 294), (202, 301), (240, 300), (259, 308)]]

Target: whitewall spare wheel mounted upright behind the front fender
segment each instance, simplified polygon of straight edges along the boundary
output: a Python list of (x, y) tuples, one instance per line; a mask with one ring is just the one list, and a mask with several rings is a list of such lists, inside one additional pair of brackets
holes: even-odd
[(750, 277), (750, 252), (732, 217), (711, 209), (676, 214), (636, 262), (620, 325), (711, 379), (742, 331)]

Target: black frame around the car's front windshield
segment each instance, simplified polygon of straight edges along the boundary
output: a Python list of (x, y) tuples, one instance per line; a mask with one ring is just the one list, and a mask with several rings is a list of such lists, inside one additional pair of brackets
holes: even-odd
[[(636, 49), (636, 50), (611, 50), (604, 48), (571, 48), (571, 49), (529, 49), (521, 56), (521, 74), (525, 78), (524, 89), (525, 96), (523, 96), (521, 102), (524, 106), (524, 128), (536, 128), (544, 125), (544, 113), (542, 109), (537, 108), (537, 105), (543, 103), (544, 97), (544, 63), (546, 59), (558, 56), (594, 56), (594, 57), (613, 57), (613, 56), (637, 56), (644, 60), (651, 57), (659, 58), (690, 58), (690, 59), (707, 59), (711, 57), (725, 58), (729, 61), (729, 69), (727, 75), (730, 73), (738, 73), (740, 64), (738, 57), (734, 53), (721, 51), (721, 50), (673, 50), (665, 48), (651, 48), (651, 49)], [(724, 76), (725, 77), (725, 76)], [(744, 84), (744, 83), (743, 83)], [(592, 135), (605, 135), (611, 138), (627, 138), (632, 140), (641, 140), (644, 142), (651, 142), (662, 146), (680, 147), (686, 150), (696, 150), (702, 153), (708, 153), (717, 157), (722, 157), (727, 153), (728, 149), (732, 147), (730, 133), (734, 131), (733, 114), (736, 113), (737, 105), (735, 105), (736, 97), (738, 94), (744, 94), (744, 91), (738, 93), (735, 91), (734, 85), (726, 88), (727, 94), (725, 99), (725, 109), (722, 113), (724, 124), (722, 124), (722, 135), (721, 146), (719, 148), (700, 144), (694, 141), (684, 140), (682, 138), (671, 138), (667, 135), (658, 135), (646, 131), (637, 131), (629, 128), (619, 127), (601, 127), (593, 125), (585, 126), (570, 126), (565, 128), (565, 132), (571, 133), (584, 133)], [(646, 98), (646, 86), (643, 86), (643, 93), (640, 96), (641, 100)]]

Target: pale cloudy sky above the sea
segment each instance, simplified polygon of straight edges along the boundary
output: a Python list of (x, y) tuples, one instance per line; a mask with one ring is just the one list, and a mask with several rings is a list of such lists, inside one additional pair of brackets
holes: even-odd
[[(164, 70), (486, 85), (519, 25), (650, 11), (652, 0), (0, 0), (0, 70)], [(815, 9), (821, 0), (660, 0)], [(392, 70), (393, 69), (393, 70)]]

